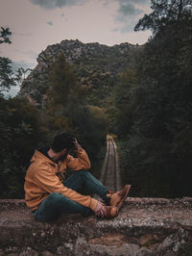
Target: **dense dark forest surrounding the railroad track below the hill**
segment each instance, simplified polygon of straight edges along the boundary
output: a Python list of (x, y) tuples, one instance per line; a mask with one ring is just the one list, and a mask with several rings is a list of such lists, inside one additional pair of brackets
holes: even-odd
[[(2, 198), (24, 196), (24, 176), (36, 146), (49, 144), (59, 130), (83, 144), (96, 175), (106, 135), (114, 134), (122, 181), (132, 184), (132, 196), (192, 196), (192, 3), (152, 0), (151, 8), (134, 30), (150, 29), (153, 36), (134, 52), (127, 70), (105, 77), (112, 87), (99, 92), (108, 91), (106, 97), (78, 83), (77, 70), (61, 52), (46, 67), (43, 104), (21, 94), (5, 98), (3, 90), (25, 86), (26, 70), (15, 73), (12, 61), (0, 57)], [(0, 43), (13, 43), (11, 34), (1, 28)]]

